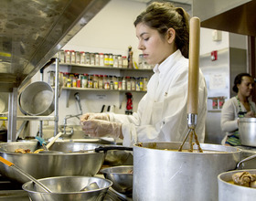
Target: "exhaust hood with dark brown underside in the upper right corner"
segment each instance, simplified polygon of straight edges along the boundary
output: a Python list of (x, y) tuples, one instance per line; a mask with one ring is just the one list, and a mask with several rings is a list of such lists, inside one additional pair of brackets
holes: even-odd
[(256, 36), (255, 0), (194, 0), (192, 10), (202, 27)]

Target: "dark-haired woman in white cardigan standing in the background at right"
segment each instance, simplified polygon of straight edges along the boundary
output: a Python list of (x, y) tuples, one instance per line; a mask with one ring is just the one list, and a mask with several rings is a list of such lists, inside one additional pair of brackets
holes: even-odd
[(240, 118), (255, 117), (256, 107), (255, 103), (250, 100), (253, 92), (254, 79), (249, 73), (240, 73), (234, 80), (232, 90), (237, 93), (225, 102), (221, 110), (221, 129), (227, 132), (227, 135), (221, 142), (225, 145), (239, 146), (239, 122)]

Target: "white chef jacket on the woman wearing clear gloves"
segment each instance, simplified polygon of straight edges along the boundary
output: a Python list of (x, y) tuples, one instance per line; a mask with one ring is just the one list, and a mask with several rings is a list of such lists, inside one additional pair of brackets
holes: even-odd
[[(188, 59), (180, 50), (154, 68), (155, 74), (147, 85), (133, 115), (109, 113), (110, 121), (121, 122), (123, 145), (138, 142), (182, 142), (187, 129)], [(196, 133), (199, 143), (205, 139), (207, 86), (199, 70), (198, 112)]]

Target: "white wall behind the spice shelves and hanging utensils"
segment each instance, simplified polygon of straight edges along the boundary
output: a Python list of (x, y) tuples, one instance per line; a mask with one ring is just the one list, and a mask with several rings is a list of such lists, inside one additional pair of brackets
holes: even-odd
[[(144, 3), (130, 0), (112, 0), (63, 49), (127, 55), (128, 46), (131, 45), (133, 47), (133, 59), (137, 60), (140, 51), (137, 50), (138, 40), (135, 37), (133, 21), (144, 10), (145, 6)], [(200, 54), (229, 47), (229, 33), (222, 32), (222, 40), (215, 42), (212, 41), (212, 31), (212, 29), (201, 28)], [(54, 69), (54, 67), (51, 68)], [(67, 69), (60, 69), (60, 71), (65, 70)], [(45, 80), (47, 80), (48, 69), (45, 71)], [(37, 73), (32, 81), (39, 79), (39, 73)], [(65, 115), (79, 113), (77, 102), (73, 96), (75, 92), (71, 91), (68, 96), (67, 90), (62, 91), (59, 98), (59, 124), (63, 123)], [(103, 99), (99, 99), (99, 95), (102, 95)], [(143, 95), (144, 93), (133, 93), (133, 111), (136, 111), (137, 103)], [(124, 93), (119, 95), (117, 92), (110, 91), (80, 91), (80, 98), (83, 112), (100, 112), (102, 104), (105, 104), (106, 107), (115, 105), (115, 112), (124, 113), (125, 111)], [(67, 107), (67, 101), (69, 107)], [(120, 105), (122, 105), (121, 109)], [(71, 119), (68, 123), (79, 124), (80, 122)], [(53, 124), (53, 122), (49, 122), (49, 124)], [(38, 122), (32, 122), (30, 135), (35, 135), (37, 129)]]

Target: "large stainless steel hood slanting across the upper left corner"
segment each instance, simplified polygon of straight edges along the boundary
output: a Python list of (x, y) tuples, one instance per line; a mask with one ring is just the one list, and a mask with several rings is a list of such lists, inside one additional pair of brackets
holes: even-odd
[(110, 0), (1, 0), (0, 92), (31, 79)]

